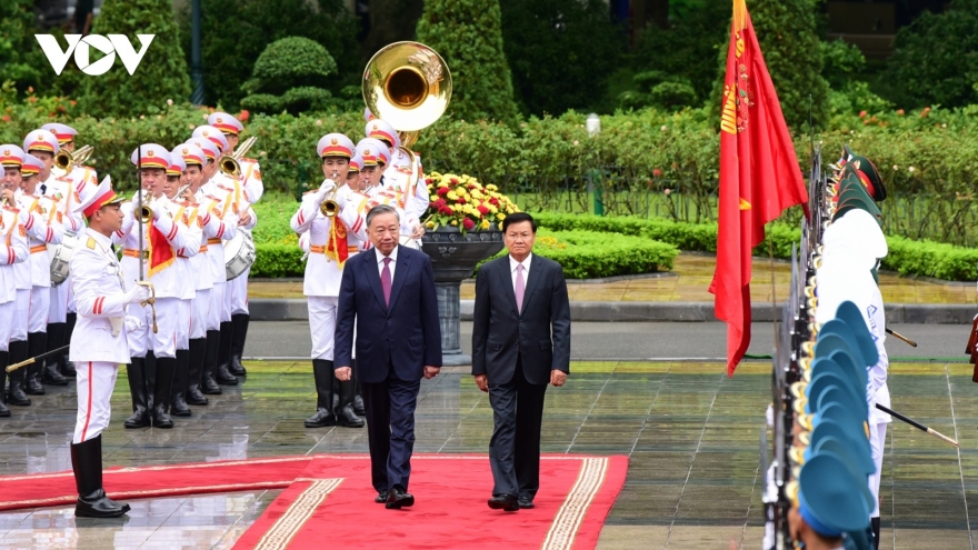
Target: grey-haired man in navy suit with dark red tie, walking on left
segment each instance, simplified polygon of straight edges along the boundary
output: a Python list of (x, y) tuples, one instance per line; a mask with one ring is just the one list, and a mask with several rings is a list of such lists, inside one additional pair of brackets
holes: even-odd
[(415, 503), (408, 478), (421, 377), (433, 378), (441, 368), (438, 299), (431, 260), (398, 246), (397, 210), (370, 209), (367, 236), (373, 248), (347, 260), (340, 283), (336, 376), (347, 381), (352, 374), (356, 322), (375, 501), (399, 509)]

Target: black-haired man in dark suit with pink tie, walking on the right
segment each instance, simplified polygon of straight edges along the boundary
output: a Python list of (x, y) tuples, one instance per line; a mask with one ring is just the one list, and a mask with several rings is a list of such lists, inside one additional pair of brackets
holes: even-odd
[(533, 256), (537, 223), (523, 212), (502, 220), (509, 254), (476, 279), (472, 374), (489, 392), (495, 429), (489, 508), (533, 508), (540, 487), (540, 422), (547, 383), (570, 372), (570, 303), (560, 264)]

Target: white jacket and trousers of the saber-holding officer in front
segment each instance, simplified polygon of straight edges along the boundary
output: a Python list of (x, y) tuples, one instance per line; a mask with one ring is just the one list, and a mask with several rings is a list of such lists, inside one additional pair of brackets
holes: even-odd
[(69, 262), (78, 306), (78, 324), (69, 351), (69, 359), (78, 368), (73, 443), (96, 438), (108, 428), (116, 373), (120, 363), (129, 362), (129, 343), (122, 330), (126, 282), (112, 241), (91, 229), (84, 230), (82, 240)]

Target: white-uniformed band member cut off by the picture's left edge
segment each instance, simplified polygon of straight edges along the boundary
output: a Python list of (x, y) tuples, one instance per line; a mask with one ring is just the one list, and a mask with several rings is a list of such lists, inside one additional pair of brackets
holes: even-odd
[[(0, 180), (6, 178), (0, 163)], [(10, 363), (10, 334), (17, 314), (17, 278), (13, 266), (22, 263), (30, 254), (27, 239), (20, 236), (20, 219), (12, 207), (13, 193), (2, 193), (0, 199), (0, 417), (9, 417), (10, 409), (4, 404), (7, 388), (7, 366)], [(21, 369), (22, 370), (22, 369)]]

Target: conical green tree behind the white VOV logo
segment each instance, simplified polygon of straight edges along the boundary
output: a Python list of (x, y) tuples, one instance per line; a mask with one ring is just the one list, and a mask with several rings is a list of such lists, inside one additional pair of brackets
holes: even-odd
[[(154, 38), (133, 74), (117, 59), (104, 74), (86, 76), (78, 100), (86, 112), (129, 117), (158, 112), (168, 99), (188, 99), (190, 77), (170, 0), (106, 0), (92, 27), (93, 34), (129, 37), (136, 50), (141, 48), (137, 34)], [(90, 51), (94, 61), (97, 50)]]

